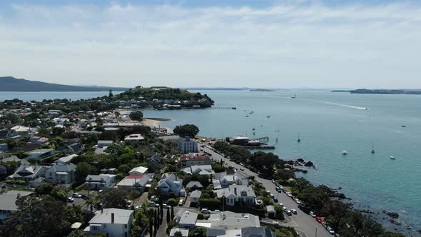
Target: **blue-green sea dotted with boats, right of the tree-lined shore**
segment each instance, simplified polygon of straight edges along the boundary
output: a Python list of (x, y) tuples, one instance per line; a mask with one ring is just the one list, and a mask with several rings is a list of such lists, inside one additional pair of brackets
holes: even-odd
[(237, 109), (146, 110), (144, 116), (173, 119), (161, 123), (171, 128), (196, 124), (203, 136), (269, 136), (280, 158), (303, 157), (318, 166), (303, 175), (313, 183), (342, 187), (356, 206), (395, 211), (421, 229), (421, 96), (295, 91), (297, 98), (291, 99), (294, 92), (200, 92), (215, 106)]

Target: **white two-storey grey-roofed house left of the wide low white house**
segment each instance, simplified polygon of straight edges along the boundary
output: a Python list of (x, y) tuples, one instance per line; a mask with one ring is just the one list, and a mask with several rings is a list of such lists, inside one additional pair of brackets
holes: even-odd
[(76, 165), (73, 163), (55, 163), (46, 171), (46, 180), (57, 182), (61, 186), (69, 188), (75, 181)]

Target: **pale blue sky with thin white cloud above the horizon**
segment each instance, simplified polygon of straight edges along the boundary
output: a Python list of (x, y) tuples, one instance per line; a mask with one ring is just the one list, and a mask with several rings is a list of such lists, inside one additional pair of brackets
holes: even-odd
[(420, 66), (421, 1), (0, 1), (0, 76), (420, 89)]

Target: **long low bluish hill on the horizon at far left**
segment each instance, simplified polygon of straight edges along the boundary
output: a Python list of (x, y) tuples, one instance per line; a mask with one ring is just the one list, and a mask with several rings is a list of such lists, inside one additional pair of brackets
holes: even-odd
[(128, 88), (107, 86), (69, 86), (42, 81), (16, 79), (13, 76), (0, 77), (0, 91), (126, 91)]

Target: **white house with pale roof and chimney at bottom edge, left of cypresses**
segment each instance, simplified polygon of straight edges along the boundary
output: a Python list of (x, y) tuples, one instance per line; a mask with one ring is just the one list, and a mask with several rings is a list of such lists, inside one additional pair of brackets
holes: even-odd
[(104, 233), (106, 236), (129, 237), (133, 210), (118, 208), (106, 208), (95, 212), (95, 216), (89, 221), (83, 231), (90, 235)]

